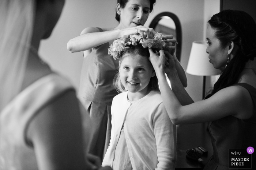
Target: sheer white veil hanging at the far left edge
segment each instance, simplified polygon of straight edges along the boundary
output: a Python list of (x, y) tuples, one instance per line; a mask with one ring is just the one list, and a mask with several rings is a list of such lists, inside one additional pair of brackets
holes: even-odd
[(0, 111), (22, 86), (35, 0), (0, 0)]

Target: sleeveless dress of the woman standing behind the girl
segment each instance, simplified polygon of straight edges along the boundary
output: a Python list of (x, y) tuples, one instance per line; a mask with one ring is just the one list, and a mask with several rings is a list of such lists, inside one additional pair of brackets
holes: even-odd
[[(101, 28), (98, 28), (101, 32)], [(78, 97), (90, 113), (95, 126), (89, 153), (103, 159), (111, 134), (111, 104), (118, 93), (113, 79), (118, 61), (108, 54), (109, 43), (93, 48), (83, 59)]]

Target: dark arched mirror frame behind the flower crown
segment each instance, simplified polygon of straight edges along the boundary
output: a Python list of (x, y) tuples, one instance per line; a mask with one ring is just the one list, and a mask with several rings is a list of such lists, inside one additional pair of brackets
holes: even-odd
[(178, 42), (178, 44), (176, 45), (176, 57), (177, 57), (178, 61), (180, 61), (180, 59), (181, 59), (181, 47), (182, 47), (181, 46), (182, 45), (182, 30), (181, 30), (180, 20), (178, 19), (177, 15), (175, 15), (172, 12), (159, 13), (151, 21), (149, 27), (155, 29), (158, 22), (165, 16), (169, 16), (174, 21), (174, 24), (175, 24), (175, 27), (176, 27), (176, 37), (177, 37), (176, 41)]

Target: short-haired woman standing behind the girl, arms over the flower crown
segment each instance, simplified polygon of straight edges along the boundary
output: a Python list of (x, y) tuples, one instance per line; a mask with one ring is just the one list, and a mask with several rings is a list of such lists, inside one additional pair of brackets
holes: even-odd
[[(118, 60), (108, 54), (108, 47), (113, 40), (123, 35), (139, 33), (152, 38), (155, 31), (144, 27), (149, 13), (153, 10), (155, 0), (118, 0), (116, 19), (119, 22), (114, 28), (85, 28), (81, 35), (69, 40), (67, 48), (70, 52), (84, 51), (84, 60), (80, 77), (79, 98), (90, 112), (90, 118), (95, 125), (90, 153), (103, 158), (109, 146), (111, 133), (111, 104), (118, 93), (114, 90), (113, 79), (117, 73)], [(175, 43), (172, 36), (165, 36), (166, 43)], [(167, 47), (169, 50), (175, 46)], [(187, 78), (180, 63), (177, 70), (181, 82), (187, 86)]]

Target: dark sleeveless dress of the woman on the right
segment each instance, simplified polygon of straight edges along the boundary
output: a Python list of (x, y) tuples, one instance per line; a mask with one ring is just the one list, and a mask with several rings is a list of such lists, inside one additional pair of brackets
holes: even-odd
[[(246, 83), (237, 83), (233, 86), (242, 86), (251, 94), (254, 103), (254, 112), (249, 119), (238, 119), (234, 116), (214, 120), (208, 123), (212, 138), (213, 156), (204, 170), (229, 170), (229, 149), (256, 148), (256, 89)], [(256, 169), (256, 154), (252, 154), (252, 169)], [(232, 169), (238, 170), (238, 169)]]

